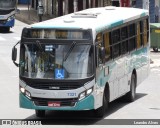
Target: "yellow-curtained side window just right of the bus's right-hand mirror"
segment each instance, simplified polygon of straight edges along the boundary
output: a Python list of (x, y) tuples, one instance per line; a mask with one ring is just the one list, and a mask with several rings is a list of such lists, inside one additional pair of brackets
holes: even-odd
[(106, 32), (103, 35), (104, 38), (104, 47), (105, 47), (105, 61), (111, 59), (111, 49), (110, 49), (110, 32)]

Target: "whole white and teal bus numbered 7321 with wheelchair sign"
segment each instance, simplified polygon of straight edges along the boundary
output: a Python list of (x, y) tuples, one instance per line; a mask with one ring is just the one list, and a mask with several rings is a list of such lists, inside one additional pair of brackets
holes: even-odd
[(134, 101), (149, 75), (149, 14), (123, 7), (91, 8), (24, 28), (12, 49), (19, 67), (20, 107), (93, 110), (103, 116), (109, 102)]

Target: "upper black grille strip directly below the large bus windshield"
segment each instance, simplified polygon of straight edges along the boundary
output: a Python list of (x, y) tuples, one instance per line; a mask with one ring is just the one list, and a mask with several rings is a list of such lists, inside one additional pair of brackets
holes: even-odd
[(33, 83), (28, 86), (35, 88), (35, 89), (43, 89), (43, 90), (71, 90), (71, 89), (77, 89), (81, 87), (83, 84), (80, 84), (78, 82), (66, 82), (66, 83)]

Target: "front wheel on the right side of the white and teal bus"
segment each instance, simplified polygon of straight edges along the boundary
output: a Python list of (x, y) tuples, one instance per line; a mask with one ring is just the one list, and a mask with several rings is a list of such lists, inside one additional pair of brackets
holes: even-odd
[[(106, 90), (106, 89), (105, 89)], [(103, 105), (95, 110), (95, 116), (98, 118), (102, 118), (105, 113), (106, 110), (108, 109), (108, 104), (109, 104), (109, 98), (108, 98), (108, 91), (103, 94)]]

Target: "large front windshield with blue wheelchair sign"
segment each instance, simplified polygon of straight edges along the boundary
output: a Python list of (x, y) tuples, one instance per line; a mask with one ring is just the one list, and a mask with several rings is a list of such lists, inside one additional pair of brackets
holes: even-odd
[(20, 75), (37, 79), (85, 79), (93, 75), (89, 44), (22, 44)]

